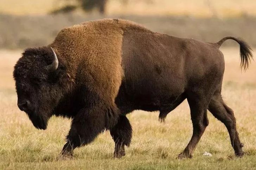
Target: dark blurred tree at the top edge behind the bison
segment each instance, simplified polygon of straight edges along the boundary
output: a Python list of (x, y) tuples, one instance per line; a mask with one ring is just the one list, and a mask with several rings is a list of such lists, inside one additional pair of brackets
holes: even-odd
[[(66, 0), (66, 1), (70, 1), (70, 0)], [(77, 5), (66, 5), (64, 7), (51, 11), (51, 14), (71, 12), (78, 7), (81, 7), (85, 12), (88, 12), (94, 8), (97, 8), (101, 14), (105, 13), (105, 6), (107, 3), (107, 0), (75, 0), (75, 1), (77, 1)]]

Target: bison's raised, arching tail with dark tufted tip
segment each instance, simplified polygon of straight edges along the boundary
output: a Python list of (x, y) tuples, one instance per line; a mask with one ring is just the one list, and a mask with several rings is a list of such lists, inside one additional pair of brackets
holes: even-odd
[(240, 38), (234, 38), (234, 37), (225, 37), (222, 38), (219, 42), (217, 42), (217, 45), (220, 47), (224, 41), (226, 40), (235, 40), (240, 45), (240, 59), (241, 59), (241, 69), (247, 70), (249, 66), (249, 62), (251, 62), (252, 57), (252, 49), (251, 47), (242, 39)]

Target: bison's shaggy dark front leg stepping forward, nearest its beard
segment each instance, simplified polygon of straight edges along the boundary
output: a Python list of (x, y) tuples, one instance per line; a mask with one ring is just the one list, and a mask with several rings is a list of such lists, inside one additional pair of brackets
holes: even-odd
[(115, 104), (81, 109), (72, 120), (62, 155), (73, 156), (75, 148), (92, 142), (105, 129), (114, 127), (118, 117), (119, 110)]

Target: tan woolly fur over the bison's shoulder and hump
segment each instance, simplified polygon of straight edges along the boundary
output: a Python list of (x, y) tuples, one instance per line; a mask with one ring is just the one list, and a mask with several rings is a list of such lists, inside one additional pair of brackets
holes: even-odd
[(127, 20), (88, 21), (62, 29), (49, 47), (65, 58), (71, 79), (88, 82), (91, 90), (114, 102), (123, 76), (123, 33), (133, 29), (151, 32)]

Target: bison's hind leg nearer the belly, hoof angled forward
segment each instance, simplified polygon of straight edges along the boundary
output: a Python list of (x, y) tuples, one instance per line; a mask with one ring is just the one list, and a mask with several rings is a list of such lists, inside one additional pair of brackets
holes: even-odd
[(193, 134), (185, 150), (179, 154), (179, 159), (192, 158), (192, 153), (209, 124), (207, 118), (207, 99), (201, 98), (199, 100), (195, 100), (188, 98), (188, 104), (191, 111)]

